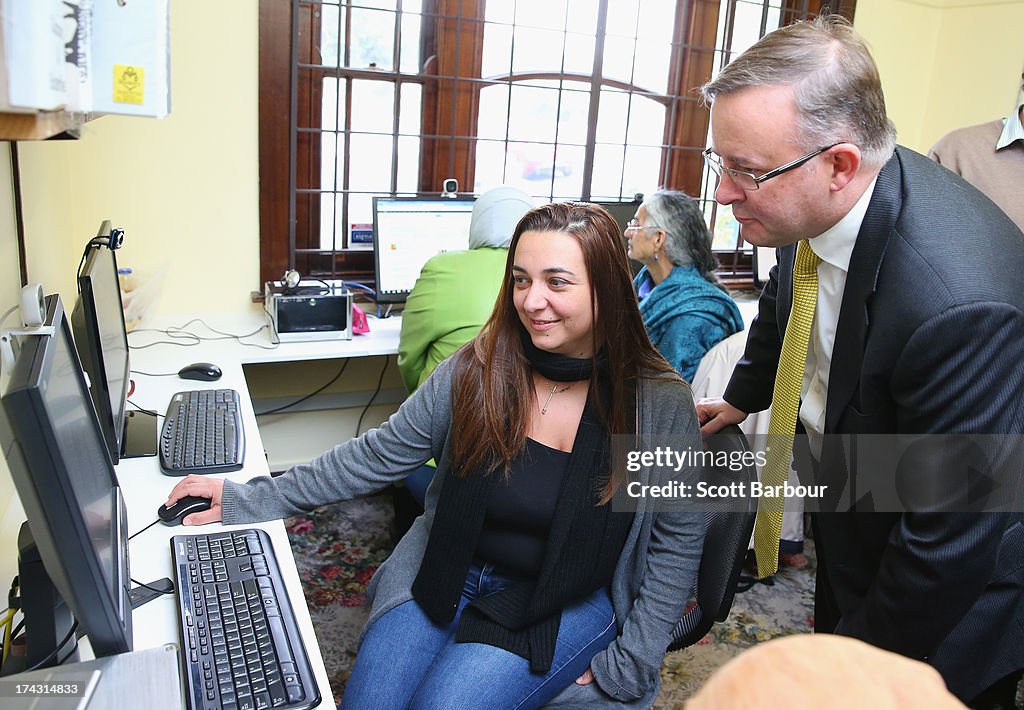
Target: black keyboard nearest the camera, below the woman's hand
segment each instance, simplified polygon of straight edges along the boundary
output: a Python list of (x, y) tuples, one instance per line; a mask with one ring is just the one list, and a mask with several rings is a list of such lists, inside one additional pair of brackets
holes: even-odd
[(265, 532), (176, 535), (171, 556), (191, 710), (292, 710), (319, 703)]

